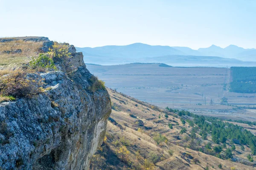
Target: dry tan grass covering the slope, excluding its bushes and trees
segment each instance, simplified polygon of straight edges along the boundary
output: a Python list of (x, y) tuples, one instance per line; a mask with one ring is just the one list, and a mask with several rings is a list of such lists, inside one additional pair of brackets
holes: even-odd
[[(185, 148), (184, 146), (186, 146), (187, 143), (184, 140), (184, 137), (191, 133), (192, 130), (187, 123), (183, 125), (179, 118), (175, 118), (172, 115), (169, 115), (169, 118), (166, 119), (162, 109), (152, 107), (150, 104), (137, 102), (131, 97), (127, 98), (125, 95), (110, 89), (108, 89), (108, 92), (111, 96), (111, 102), (118, 108), (118, 110), (112, 109), (111, 113), (111, 118), (113, 118), (117, 124), (108, 122), (108, 139), (105, 144), (102, 145), (103, 152), (99, 151), (98, 154), (108, 153), (108, 156), (105, 158), (108, 159), (107, 161), (111, 161), (114, 158), (111, 159), (111, 156), (113, 156), (116, 150), (122, 146), (120, 142), (116, 141), (125, 138), (130, 143), (130, 145), (127, 146), (127, 149), (130, 151), (130, 161), (132, 162), (131, 167), (125, 167), (127, 164), (123, 164), (123, 162), (120, 161), (118, 162), (119, 164), (108, 166), (108, 168), (113, 170), (145, 170), (145, 159), (149, 160), (150, 153), (152, 152), (157, 154), (160, 159), (155, 165), (152, 165), (150, 170), (204, 170), (207, 166), (210, 170), (213, 170), (218, 169), (218, 164), (222, 164), (223, 170), (230, 170), (230, 167), (236, 167), (236, 169), (239, 170), (249, 170), (253, 168), (238, 162), (222, 160), (215, 156)], [(137, 104), (137, 106), (135, 106), (135, 104)], [(129, 115), (131, 113), (136, 115), (137, 118), (132, 118)], [(161, 115), (161, 118), (158, 118), (158, 115)], [(144, 122), (144, 127), (140, 127), (136, 124), (135, 121), (137, 120), (142, 120)], [(177, 121), (179, 125), (176, 126), (175, 122), (172, 121)], [(173, 124), (173, 129), (168, 127), (169, 122)], [(145, 129), (145, 127), (152, 129)], [(186, 127), (188, 132), (180, 134), (180, 130), (183, 127)], [(143, 133), (138, 132), (138, 128), (142, 128)], [(157, 144), (153, 139), (155, 133), (161, 133), (166, 136), (168, 141)], [(180, 139), (177, 139), (175, 136), (179, 136)], [(200, 137), (199, 134), (197, 134), (197, 136)], [(208, 137), (209, 140), (211, 140), (211, 137)], [(201, 145), (203, 146), (207, 144), (209, 140), (203, 140)], [(212, 144), (212, 147), (214, 146), (215, 144)], [(108, 148), (108, 150), (104, 148)], [(236, 148), (239, 150), (239, 146), (236, 146)], [(248, 148), (246, 147), (245, 150), (247, 149)], [(169, 150), (173, 151), (172, 156), (169, 154)], [(239, 151), (243, 152), (241, 150)], [(188, 153), (194, 158), (184, 159), (182, 158), (182, 153)], [(249, 152), (243, 152), (242, 155), (248, 153)], [(240, 157), (239, 154), (237, 154), (237, 156)], [(194, 159), (198, 159), (200, 163), (195, 164)], [(214, 168), (212, 168), (212, 166)], [(99, 167), (99, 169), (100, 168), (108, 169), (107, 167)]]

